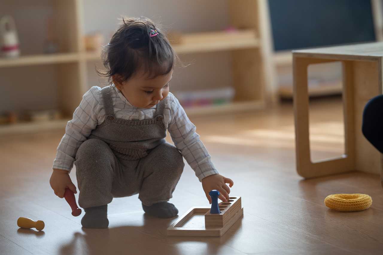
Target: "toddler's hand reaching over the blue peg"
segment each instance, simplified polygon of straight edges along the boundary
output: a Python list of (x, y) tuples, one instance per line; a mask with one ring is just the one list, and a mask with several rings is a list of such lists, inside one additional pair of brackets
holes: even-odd
[(218, 198), (224, 202), (229, 200), (230, 188), (226, 183), (229, 183), (230, 188), (234, 185), (234, 182), (219, 174), (209, 175), (202, 179), (202, 188), (205, 191), (206, 198), (209, 200), (209, 204), (211, 204), (211, 197), (209, 192), (211, 190), (218, 190), (219, 196)]

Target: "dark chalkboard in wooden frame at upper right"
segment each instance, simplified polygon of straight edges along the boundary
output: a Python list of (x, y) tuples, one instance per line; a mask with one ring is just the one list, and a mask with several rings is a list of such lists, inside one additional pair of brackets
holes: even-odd
[(375, 41), (370, 0), (268, 0), (275, 51)]

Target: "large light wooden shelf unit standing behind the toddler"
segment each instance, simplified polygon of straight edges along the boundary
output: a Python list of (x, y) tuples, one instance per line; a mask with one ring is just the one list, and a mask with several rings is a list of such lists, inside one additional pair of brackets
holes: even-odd
[[(11, 0), (5, 1), (9, 3), (7, 8), (11, 15), (18, 18), (17, 15), (20, 16), (20, 13), (16, 12), (16, 6), (11, 4)], [(100, 60), (100, 52), (85, 51), (82, 0), (54, 0), (43, 2), (43, 4), (51, 4), (47, 8), (52, 8), (56, 15), (54, 28), (61, 31), (57, 38), (57, 41), (60, 42), (60, 53), (29, 54), (14, 59), (0, 59), (0, 71), (3, 68), (23, 66), (41, 66), (41, 70), (43, 70), (45, 65), (54, 65), (58, 81), (59, 109), (62, 110), (64, 116), (71, 116), (79, 105), (82, 95), (90, 87), (87, 77), (88, 65), (91, 64), (91, 61)], [(243, 0), (241, 2), (229, 0), (228, 4), (230, 25), (238, 28), (237, 31), (185, 33), (182, 35), (182, 40), (173, 44), (173, 47), (181, 57), (183, 54), (198, 52), (231, 52), (232, 74), (235, 81), (233, 87), (236, 91), (234, 102), (227, 105), (187, 108), (188, 114), (256, 110), (263, 108), (270, 96), (268, 87), (271, 82), (271, 63), (266, 57), (270, 54), (270, 48), (268, 47), (269, 39), (265, 34), (265, 28), (268, 25), (264, 24), (263, 16), (266, 0)], [(26, 128), (26, 123), (3, 125), (0, 126), (0, 134), (10, 133), (12, 127), (16, 127), (14, 131), (20, 132), (33, 131), (41, 126), (48, 129), (55, 128), (66, 121), (65, 119), (62, 123), (60, 121), (29, 123), (31, 128)], [(64, 127), (63, 124), (62, 128)]]

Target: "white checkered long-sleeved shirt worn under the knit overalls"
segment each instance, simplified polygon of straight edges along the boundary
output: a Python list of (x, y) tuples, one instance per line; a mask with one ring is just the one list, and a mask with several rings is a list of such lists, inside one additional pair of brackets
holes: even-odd
[[(116, 118), (126, 120), (154, 118), (156, 106), (149, 109), (136, 108), (126, 100), (122, 93), (118, 93), (114, 86), (111, 87), (116, 92), (111, 93)], [(65, 134), (57, 147), (53, 168), (70, 172), (77, 149), (92, 130), (105, 120), (106, 112), (100, 90), (100, 87), (95, 86), (83, 95), (82, 101), (74, 111), (73, 119), (68, 121)], [(169, 93), (164, 100), (165, 127), (169, 131), (174, 145), (195, 171), (198, 180), (201, 181), (204, 177), (218, 173), (200, 136), (195, 132), (196, 127), (189, 120), (177, 98)]]

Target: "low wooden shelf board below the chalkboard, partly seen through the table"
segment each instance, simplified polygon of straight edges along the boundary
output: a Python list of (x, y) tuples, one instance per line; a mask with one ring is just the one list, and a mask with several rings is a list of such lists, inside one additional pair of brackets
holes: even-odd
[[(342, 94), (342, 82), (328, 83), (308, 88), (309, 96), (329, 96)], [(282, 98), (293, 97), (293, 86), (281, 86), (279, 88), (279, 95)]]

